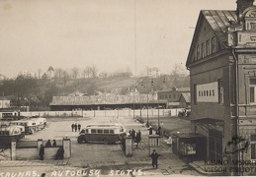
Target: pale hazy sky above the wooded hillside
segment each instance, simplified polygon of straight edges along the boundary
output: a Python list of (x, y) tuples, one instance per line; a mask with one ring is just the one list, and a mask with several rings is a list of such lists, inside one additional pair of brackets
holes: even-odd
[(201, 10), (235, 10), (236, 0), (1, 0), (0, 75), (185, 67)]

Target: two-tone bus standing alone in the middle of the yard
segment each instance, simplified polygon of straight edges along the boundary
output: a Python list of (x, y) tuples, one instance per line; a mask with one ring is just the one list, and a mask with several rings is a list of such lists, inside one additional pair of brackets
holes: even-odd
[(77, 142), (103, 142), (105, 145), (120, 142), (126, 136), (125, 127), (121, 124), (87, 125), (77, 138)]

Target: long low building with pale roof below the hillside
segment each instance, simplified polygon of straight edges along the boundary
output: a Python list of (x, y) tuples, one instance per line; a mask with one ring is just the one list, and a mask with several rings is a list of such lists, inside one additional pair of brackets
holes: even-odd
[(49, 103), (50, 110), (106, 110), (106, 109), (143, 109), (165, 107), (166, 103), (157, 99), (157, 94), (131, 93), (83, 95), (83, 96), (53, 96)]

